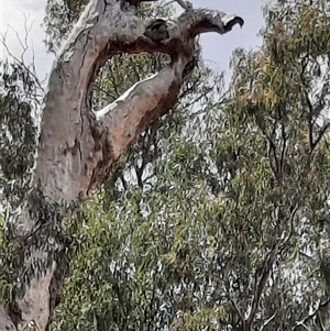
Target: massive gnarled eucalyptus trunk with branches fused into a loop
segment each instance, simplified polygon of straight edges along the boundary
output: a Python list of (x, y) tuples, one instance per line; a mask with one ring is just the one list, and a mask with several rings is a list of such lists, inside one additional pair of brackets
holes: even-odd
[[(143, 1), (135, 2), (91, 0), (56, 56), (41, 106), (32, 178), (24, 199), (7, 212), (6, 228), (20, 258), (11, 275), (12, 300), (0, 308), (1, 330), (50, 327), (68, 267), (63, 229), (74, 222), (75, 211), (102, 184), (113, 162), (174, 108), (185, 78), (198, 63), (196, 37), (205, 32), (223, 34), (243, 24), (233, 14), (195, 10), (189, 3), (177, 19), (141, 19), (135, 13)], [(90, 92), (105, 63), (118, 54), (143, 52), (167, 54), (169, 62), (112, 103), (92, 111)], [(15, 82), (23, 79), (13, 73), (14, 67), (6, 78), (21, 88)], [(1, 92), (7, 97), (6, 88)], [(16, 102), (20, 113), (24, 109), (29, 113), (29, 102), (20, 97), (18, 101), (1, 97), (1, 108)], [(11, 142), (9, 123), (1, 124)], [(21, 181), (25, 185), (25, 179)]]

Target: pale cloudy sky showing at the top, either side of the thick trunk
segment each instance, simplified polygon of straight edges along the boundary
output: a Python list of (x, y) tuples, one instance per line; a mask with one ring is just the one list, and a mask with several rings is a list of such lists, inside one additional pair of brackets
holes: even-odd
[[(241, 30), (235, 26), (227, 35), (208, 33), (202, 35), (204, 57), (219, 70), (229, 73), (229, 59), (237, 47), (254, 48), (261, 44), (257, 33), (264, 26), (262, 5), (265, 0), (190, 0), (195, 7), (219, 9), (241, 15), (245, 24)], [(43, 38), (44, 33), (41, 22), (44, 15), (46, 0), (0, 0), (1, 34), (7, 33), (7, 45), (9, 49), (20, 55), (22, 47), (14, 31), (25, 43), (25, 27), (31, 29), (28, 44), (30, 51), (25, 53), (25, 59), (31, 62), (31, 49), (34, 51), (36, 71), (40, 78), (44, 78), (50, 73), (53, 57), (46, 54)], [(28, 24), (25, 24), (25, 18)], [(24, 24), (26, 26), (24, 26)], [(1, 58), (7, 56), (6, 49), (1, 45)]]

